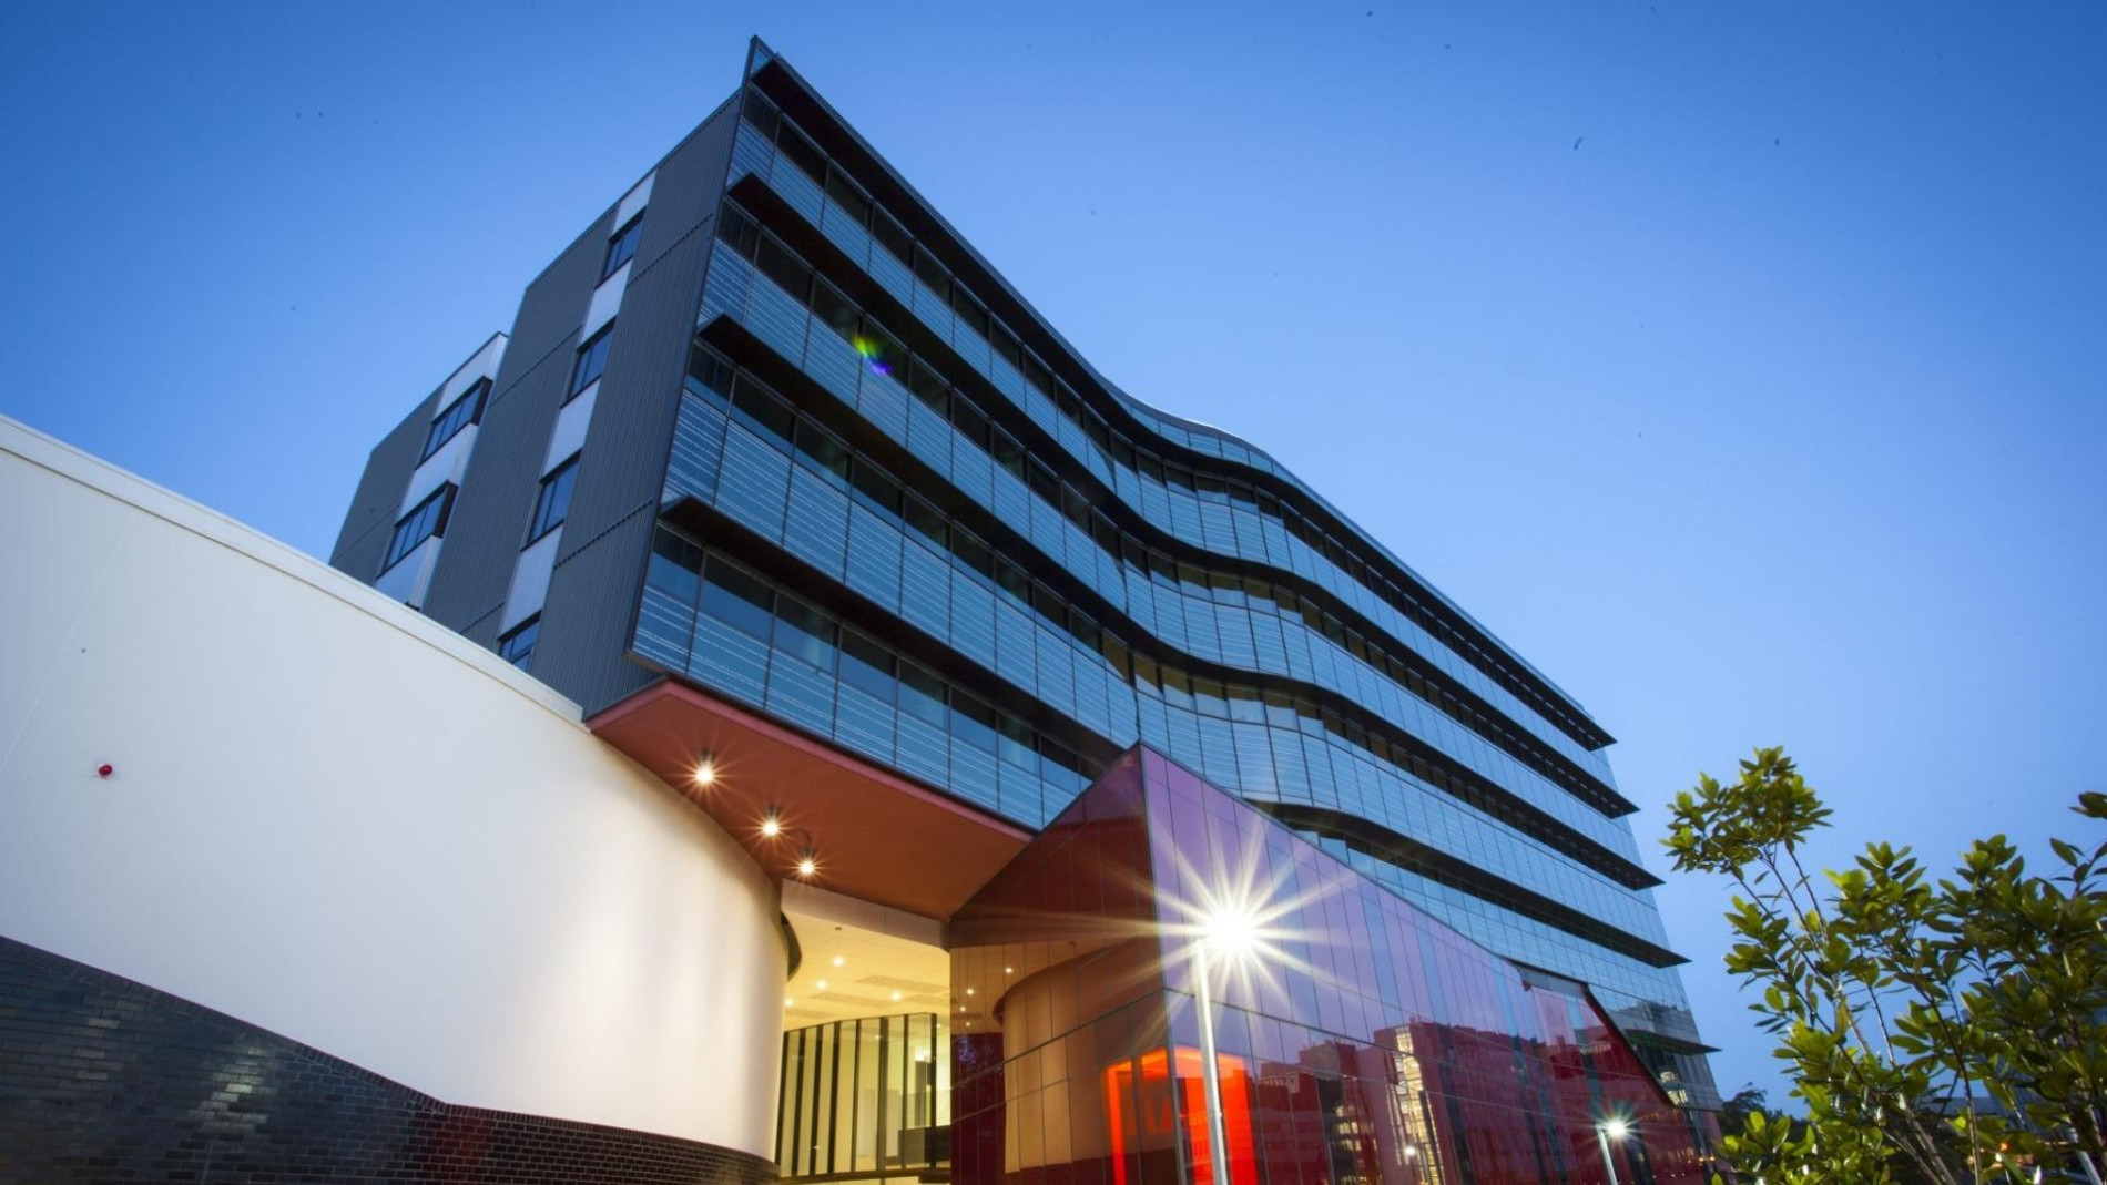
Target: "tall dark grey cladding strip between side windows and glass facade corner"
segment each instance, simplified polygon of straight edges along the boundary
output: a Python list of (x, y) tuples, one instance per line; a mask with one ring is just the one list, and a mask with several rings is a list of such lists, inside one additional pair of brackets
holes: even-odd
[(666, 453), (735, 126), (727, 103), (659, 162), (607, 373), (594, 396), (533, 661), (541, 682), (586, 711), (655, 678), (626, 657), (630, 617), (666, 484)]

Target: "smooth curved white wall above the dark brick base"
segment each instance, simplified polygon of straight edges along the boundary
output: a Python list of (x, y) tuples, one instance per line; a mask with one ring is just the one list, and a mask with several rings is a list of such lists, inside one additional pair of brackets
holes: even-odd
[(0, 556), (0, 935), (449, 1103), (773, 1160), (775, 888), (575, 705), (6, 419)]

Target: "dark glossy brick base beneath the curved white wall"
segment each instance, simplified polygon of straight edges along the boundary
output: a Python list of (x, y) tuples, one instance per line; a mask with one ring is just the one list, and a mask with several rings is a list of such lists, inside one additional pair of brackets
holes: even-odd
[(775, 1166), (672, 1137), (455, 1107), (0, 939), (0, 1183), (44, 1181), (763, 1185)]

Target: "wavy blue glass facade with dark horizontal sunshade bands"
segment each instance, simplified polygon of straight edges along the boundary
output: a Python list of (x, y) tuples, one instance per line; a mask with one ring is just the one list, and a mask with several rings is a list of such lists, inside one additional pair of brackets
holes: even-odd
[(1603, 732), (1241, 440), (1102, 383), (786, 67), (718, 202), (632, 652), (1043, 827), (1134, 743), (1715, 1105)]

